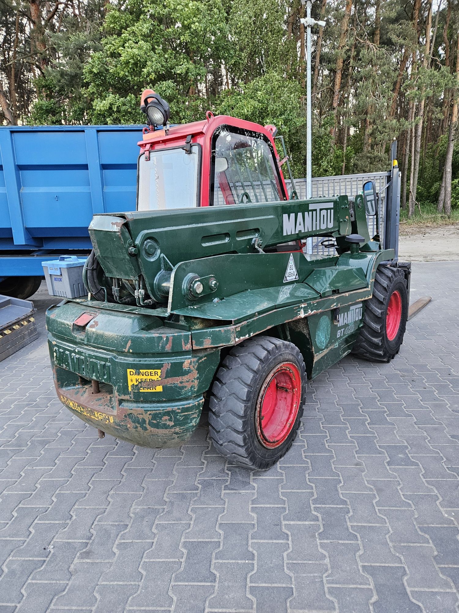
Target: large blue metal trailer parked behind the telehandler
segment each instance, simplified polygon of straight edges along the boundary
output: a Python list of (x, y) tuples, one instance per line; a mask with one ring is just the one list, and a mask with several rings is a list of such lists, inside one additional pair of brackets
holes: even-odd
[(43, 261), (89, 254), (94, 213), (135, 210), (142, 129), (0, 127), (0, 294), (28, 298)]

